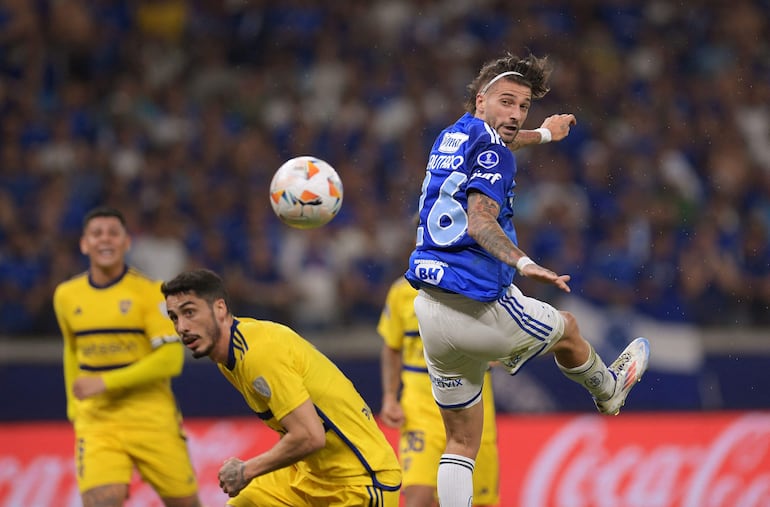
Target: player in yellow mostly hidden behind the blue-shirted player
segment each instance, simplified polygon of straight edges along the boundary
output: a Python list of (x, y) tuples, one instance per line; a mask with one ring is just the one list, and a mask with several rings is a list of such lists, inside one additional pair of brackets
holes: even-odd
[[(391, 285), (377, 332), (384, 340), (381, 355), (382, 410), (388, 426), (399, 428), (399, 459), (403, 470), (405, 507), (434, 507), (436, 470), (446, 447), (444, 423), (431, 393), (422, 340), (414, 313), (417, 290), (405, 278)], [(400, 396), (399, 396), (400, 391)], [(489, 372), (482, 389), (484, 431), (473, 472), (474, 505), (497, 505), (499, 461), (492, 380)]]

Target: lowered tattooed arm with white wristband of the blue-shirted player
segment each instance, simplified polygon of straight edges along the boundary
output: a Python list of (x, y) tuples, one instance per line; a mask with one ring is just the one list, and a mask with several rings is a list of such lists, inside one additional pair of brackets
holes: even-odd
[[(500, 206), (490, 197), (474, 191), (468, 194), (468, 234), (487, 252), (509, 266), (516, 267), (519, 259), (527, 254), (505, 235), (497, 223), (499, 213)], [(565, 292), (570, 291), (567, 285), (569, 275), (557, 275), (536, 263), (525, 266), (520, 273), (543, 283), (552, 283)]]

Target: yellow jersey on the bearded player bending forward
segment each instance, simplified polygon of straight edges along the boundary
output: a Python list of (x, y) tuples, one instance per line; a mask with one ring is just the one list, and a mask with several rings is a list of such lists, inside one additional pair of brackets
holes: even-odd
[(251, 318), (233, 322), (227, 380), (270, 428), (310, 399), (326, 429), (326, 445), (296, 464), (316, 481), (373, 484), (395, 491), (401, 484), (396, 455), (353, 383), (310, 342), (287, 326)]

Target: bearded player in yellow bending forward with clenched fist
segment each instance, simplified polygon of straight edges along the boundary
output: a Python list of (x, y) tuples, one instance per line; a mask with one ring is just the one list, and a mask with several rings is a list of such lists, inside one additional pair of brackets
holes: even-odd
[(290, 328), (234, 317), (222, 279), (182, 273), (161, 286), (193, 357), (208, 356), (281, 438), (219, 471), (228, 505), (397, 507), (398, 459), (347, 377)]

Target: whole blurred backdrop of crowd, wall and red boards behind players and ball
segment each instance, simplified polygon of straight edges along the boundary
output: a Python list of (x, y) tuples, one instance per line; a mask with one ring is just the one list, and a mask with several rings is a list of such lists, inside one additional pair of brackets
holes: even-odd
[[(638, 335), (652, 356), (619, 418), (552, 360), (495, 370), (501, 506), (770, 505), (768, 34), (770, 0), (0, 0), (0, 506), (80, 505), (52, 293), (100, 204), (132, 264), (218, 271), (236, 315), (295, 327), (377, 413), (429, 147), (482, 63), (530, 51), (555, 71), (525, 128), (578, 124), (517, 152), (515, 219), (572, 293), (517, 283), (608, 361)], [(268, 201), (297, 155), (344, 182), (318, 230)], [(209, 361), (174, 389), (222, 505), (222, 459), (275, 436)]]

